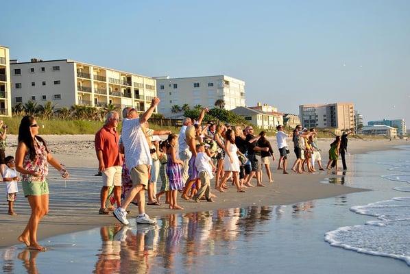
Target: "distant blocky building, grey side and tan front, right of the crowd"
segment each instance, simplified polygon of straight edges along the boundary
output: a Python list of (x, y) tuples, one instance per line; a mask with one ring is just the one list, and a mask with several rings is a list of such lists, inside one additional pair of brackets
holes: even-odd
[(299, 114), (306, 128), (354, 129), (353, 103), (300, 105)]

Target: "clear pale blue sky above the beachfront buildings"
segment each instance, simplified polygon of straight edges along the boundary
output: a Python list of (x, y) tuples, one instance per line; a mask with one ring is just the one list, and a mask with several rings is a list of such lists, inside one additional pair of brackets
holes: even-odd
[(410, 1), (2, 1), (10, 58), (149, 76), (226, 74), (257, 101), (352, 101), (410, 127)]

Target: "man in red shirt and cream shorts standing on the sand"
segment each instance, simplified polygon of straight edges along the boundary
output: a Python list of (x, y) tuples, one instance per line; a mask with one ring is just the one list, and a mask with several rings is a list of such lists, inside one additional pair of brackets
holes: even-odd
[(117, 125), (119, 114), (116, 111), (108, 112), (106, 123), (95, 134), (95, 151), (98, 159), (98, 170), (102, 173), (103, 187), (101, 188), (101, 207), (99, 214), (110, 214), (106, 209), (108, 189), (114, 186), (114, 198), (117, 207), (121, 207), (121, 172), (122, 160), (119, 154), (119, 135)]

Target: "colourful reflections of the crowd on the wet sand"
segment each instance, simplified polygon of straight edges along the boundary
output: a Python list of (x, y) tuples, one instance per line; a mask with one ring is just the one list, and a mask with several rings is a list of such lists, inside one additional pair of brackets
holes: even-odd
[[(298, 203), (292, 206), (292, 211), (293, 214), (309, 212), (313, 207), (313, 202)], [(285, 206), (254, 206), (169, 214), (157, 219), (156, 226), (101, 227), (101, 243), (97, 242), (96, 260), (92, 262), (93, 273), (175, 273), (180, 269), (190, 273), (206, 269), (202, 262), (203, 256), (233, 255), (240, 246), (239, 242), (252, 242), (254, 236), (268, 232), (265, 224), (269, 224), (270, 219), (282, 218), (284, 208)], [(61, 248), (69, 245), (54, 244), (54, 248), (58, 246)], [(16, 247), (3, 250), (3, 272), (21, 273), (21, 266), (16, 268), (18, 258), (23, 261), (23, 269), (27, 273), (38, 273), (38, 252)], [(48, 252), (44, 253), (43, 258), (49, 255)], [(70, 260), (78, 261), (75, 258)], [(47, 262), (41, 260), (40, 263), (40, 272), (51, 271), (47, 268)]]

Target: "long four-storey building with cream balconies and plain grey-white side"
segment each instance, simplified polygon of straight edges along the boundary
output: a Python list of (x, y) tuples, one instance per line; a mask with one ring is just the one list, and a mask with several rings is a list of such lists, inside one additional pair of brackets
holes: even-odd
[(152, 77), (73, 60), (12, 62), (12, 104), (51, 101), (56, 108), (88, 105), (104, 108), (149, 108), (156, 97)]

